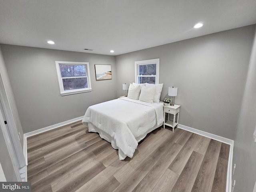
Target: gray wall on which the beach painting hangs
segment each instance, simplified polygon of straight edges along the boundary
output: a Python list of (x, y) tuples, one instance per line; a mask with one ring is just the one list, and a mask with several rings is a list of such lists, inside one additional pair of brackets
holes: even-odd
[[(1, 45), (24, 133), (83, 116), (116, 93), (115, 56)], [(60, 95), (55, 61), (89, 62), (92, 92)], [(94, 64), (111, 64), (112, 80), (96, 81)]]

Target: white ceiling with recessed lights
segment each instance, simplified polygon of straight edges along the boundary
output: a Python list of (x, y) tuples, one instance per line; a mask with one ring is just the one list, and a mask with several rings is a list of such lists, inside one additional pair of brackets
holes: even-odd
[[(194, 29), (198, 22), (204, 26)], [(256, 24), (256, 0), (0, 0), (1, 44), (95, 54), (119, 55), (250, 24)]]

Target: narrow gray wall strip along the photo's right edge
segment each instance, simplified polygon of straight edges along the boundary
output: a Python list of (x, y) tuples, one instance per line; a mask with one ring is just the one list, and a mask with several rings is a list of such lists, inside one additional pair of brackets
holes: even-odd
[[(256, 143), (253, 132), (256, 126), (256, 32), (244, 90), (242, 107), (234, 140), (233, 164), (236, 170), (234, 192), (252, 192), (256, 180)], [(233, 165), (234, 167), (234, 165)]]

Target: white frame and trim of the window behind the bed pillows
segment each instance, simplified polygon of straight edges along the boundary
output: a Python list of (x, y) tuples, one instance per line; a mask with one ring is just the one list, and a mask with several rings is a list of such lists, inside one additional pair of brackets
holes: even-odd
[[(159, 63), (160, 59), (149, 59), (135, 62), (135, 83), (138, 83), (138, 77), (156, 77), (156, 84), (159, 84)], [(156, 64), (156, 75), (138, 75), (139, 65)]]

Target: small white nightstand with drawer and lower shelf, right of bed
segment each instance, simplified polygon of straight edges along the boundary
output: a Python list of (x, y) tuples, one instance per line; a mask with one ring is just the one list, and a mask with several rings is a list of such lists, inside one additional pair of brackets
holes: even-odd
[[(165, 122), (166, 113), (168, 113), (168, 120)], [(173, 122), (170, 121), (170, 114), (173, 114)], [(175, 122), (176, 114), (178, 114), (177, 122)], [(165, 125), (168, 125), (172, 127), (172, 131), (174, 131), (175, 126), (178, 127), (178, 124), (179, 124), (179, 115), (180, 115), (180, 105), (164, 106), (164, 128), (165, 128)]]

